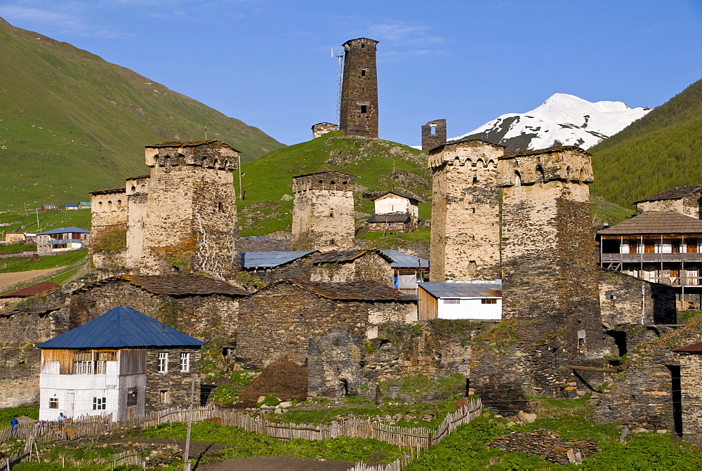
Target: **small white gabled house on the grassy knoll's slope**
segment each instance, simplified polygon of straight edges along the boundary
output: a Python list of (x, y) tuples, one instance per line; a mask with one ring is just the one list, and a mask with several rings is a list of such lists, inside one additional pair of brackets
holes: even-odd
[(371, 232), (412, 232), (419, 221), (419, 200), (395, 192), (385, 192), (376, 199), (376, 213), (367, 221)]

